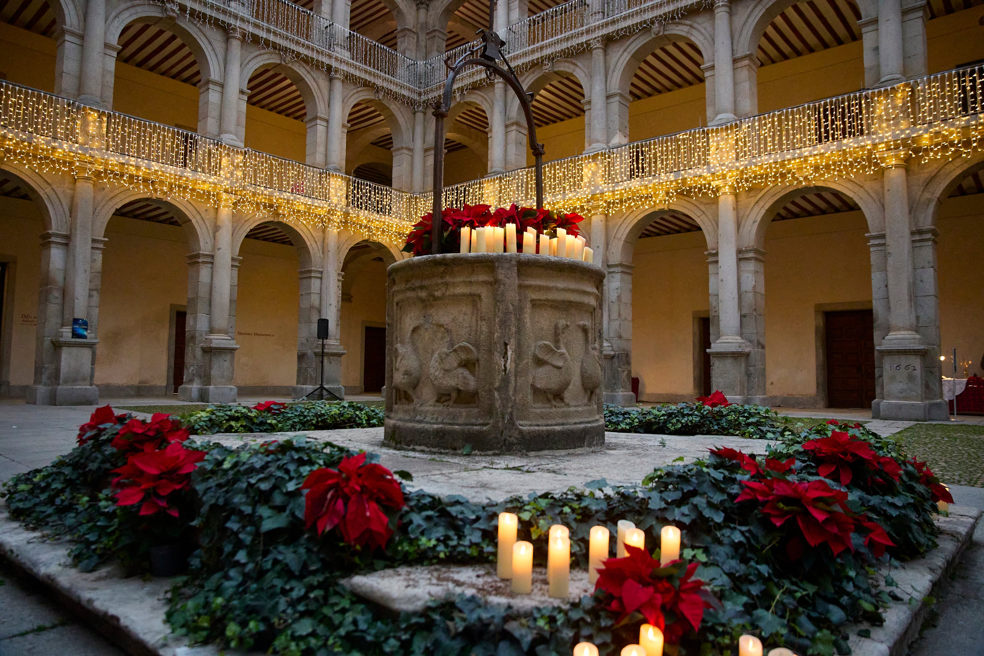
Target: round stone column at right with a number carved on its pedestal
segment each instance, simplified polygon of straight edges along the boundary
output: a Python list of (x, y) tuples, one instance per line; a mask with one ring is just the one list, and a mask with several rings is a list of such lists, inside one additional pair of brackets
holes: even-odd
[[(896, 151), (880, 157), (884, 169), (886, 282), (889, 298), (889, 333), (876, 350), (882, 355), (881, 398), (872, 403), (872, 416), (880, 419), (946, 419), (946, 403), (935, 393), (939, 382), (927, 377), (939, 365), (927, 369), (926, 360), (935, 350), (916, 331), (917, 319), (913, 281), (913, 248), (909, 217), (906, 153)], [(934, 262), (930, 263), (935, 266)], [(935, 296), (935, 279), (921, 281), (924, 297)], [(928, 321), (939, 320), (930, 313)], [(937, 356), (938, 357), (938, 356)], [(929, 391), (930, 395), (927, 396)]]

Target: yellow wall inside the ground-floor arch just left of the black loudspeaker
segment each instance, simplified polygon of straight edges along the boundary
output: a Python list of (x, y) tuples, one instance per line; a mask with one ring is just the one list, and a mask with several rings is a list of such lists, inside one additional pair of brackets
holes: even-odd
[(236, 385), (297, 382), (299, 261), (293, 246), (244, 239), (236, 290)]

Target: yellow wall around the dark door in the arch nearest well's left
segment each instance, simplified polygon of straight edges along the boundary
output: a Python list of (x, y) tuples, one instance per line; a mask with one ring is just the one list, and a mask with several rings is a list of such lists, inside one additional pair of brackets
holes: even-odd
[[(352, 280), (351, 300), (341, 303), (341, 385), (362, 385), (363, 326), (386, 325), (386, 263), (355, 263), (345, 269), (345, 279)], [(347, 288), (347, 285), (346, 285)]]

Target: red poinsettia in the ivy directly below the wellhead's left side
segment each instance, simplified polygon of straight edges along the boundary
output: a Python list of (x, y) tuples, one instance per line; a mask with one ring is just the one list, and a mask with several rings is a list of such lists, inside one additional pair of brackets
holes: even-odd
[(318, 534), (338, 526), (341, 539), (351, 545), (385, 548), (393, 535), (390, 519), (380, 506), (400, 509), (403, 492), (393, 472), (381, 464), (366, 464), (365, 453), (346, 457), (338, 471), (324, 467), (311, 472), (302, 490), (307, 527)]

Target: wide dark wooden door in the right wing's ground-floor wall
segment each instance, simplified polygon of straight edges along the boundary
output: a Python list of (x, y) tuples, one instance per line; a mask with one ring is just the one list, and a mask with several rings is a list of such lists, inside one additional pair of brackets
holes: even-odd
[(827, 404), (870, 408), (875, 398), (871, 310), (827, 313)]

